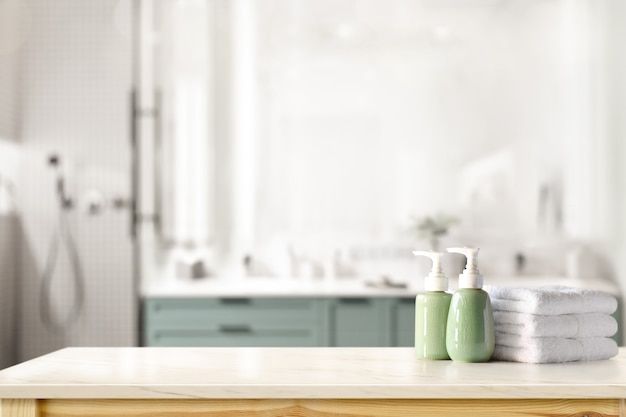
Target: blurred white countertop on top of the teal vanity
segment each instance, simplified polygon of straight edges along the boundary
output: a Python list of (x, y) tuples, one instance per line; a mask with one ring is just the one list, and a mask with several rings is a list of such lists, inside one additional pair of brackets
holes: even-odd
[[(450, 280), (451, 287), (456, 280)], [(619, 287), (608, 281), (584, 282), (563, 277), (486, 278), (486, 284), (506, 286), (565, 285), (591, 288), (620, 295)], [(373, 288), (362, 279), (206, 278), (196, 281), (169, 279), (144, 283), (144, 297), (415, 297), (422, 290), (420, 280), (408, 288)]]

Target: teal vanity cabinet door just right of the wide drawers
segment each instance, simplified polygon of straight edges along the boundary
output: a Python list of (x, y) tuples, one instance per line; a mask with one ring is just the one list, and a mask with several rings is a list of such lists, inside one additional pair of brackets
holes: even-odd
[(339, 298), (331, 303), (332, 346), (388, 346), (390, 341), (388, 300)]

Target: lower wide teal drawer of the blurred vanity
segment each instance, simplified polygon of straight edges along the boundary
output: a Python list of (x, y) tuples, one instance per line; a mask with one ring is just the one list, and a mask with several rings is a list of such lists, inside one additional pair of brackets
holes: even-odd
[(316, 346), (315, 328), (220, 326), (214, 329), (167, 329), (148, 332), (149, 346)]

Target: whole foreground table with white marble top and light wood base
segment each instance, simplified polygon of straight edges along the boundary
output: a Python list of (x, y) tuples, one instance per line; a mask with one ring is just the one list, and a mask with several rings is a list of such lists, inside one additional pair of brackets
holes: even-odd
[(410, 348), (70, 348), (0, 371), (2, 417), (626, 416), (626, 350), (560, 365)]

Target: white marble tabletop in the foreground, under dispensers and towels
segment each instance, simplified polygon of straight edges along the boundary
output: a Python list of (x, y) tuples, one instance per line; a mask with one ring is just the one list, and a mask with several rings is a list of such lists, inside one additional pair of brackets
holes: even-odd
[(0, 398), (626, 398), (626, 350), (554, 365), (412, 348), (68, 348), (0, 371)]

